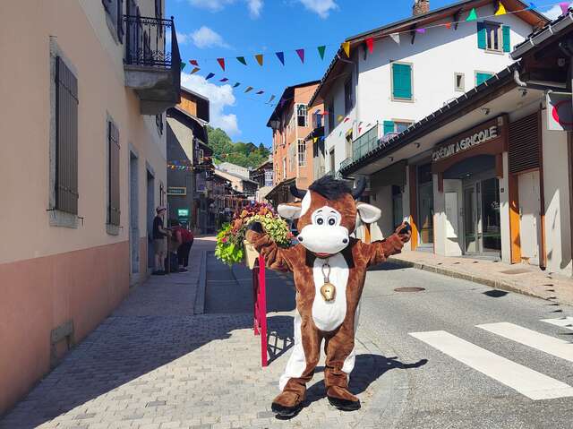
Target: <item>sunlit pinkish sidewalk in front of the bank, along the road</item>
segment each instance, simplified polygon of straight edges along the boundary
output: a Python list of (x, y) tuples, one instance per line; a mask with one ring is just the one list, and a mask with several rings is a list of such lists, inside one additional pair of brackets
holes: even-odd
[(509, 264), (466, 257), (440, 256), (429, 252), (412, 252), (391, 256), (389, 262), (428, 270), (457, 279), (481, 283), (497, 289), (573, 305), (573, 279), (539, 267)]

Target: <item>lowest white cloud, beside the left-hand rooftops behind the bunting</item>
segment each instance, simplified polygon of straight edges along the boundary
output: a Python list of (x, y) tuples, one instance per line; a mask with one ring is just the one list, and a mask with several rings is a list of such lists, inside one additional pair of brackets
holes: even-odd
[(236, 115), (225, 112), (225, 107), (235, 106), (231, 85), (215, 85), (198, 74), (181, 73), (181, 86), (193, 90), (210, 101), (210, 124), (229, 135), (240, 134)]

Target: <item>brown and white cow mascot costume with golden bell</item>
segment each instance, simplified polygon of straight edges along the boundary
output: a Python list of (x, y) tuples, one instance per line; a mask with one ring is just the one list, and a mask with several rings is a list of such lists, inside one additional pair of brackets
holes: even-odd
[(297, 219), (299, 243), (295, 246), (279, 247), (258, 222), (247, 231), (247, 240), (270, 269), (292, 271), (295, 278), (295, 346), (280, 377), (282, 391), (272, 402), (278, 416), (295, 416), (303, 407), (306, 383), (318, 365), (322, 340), (330, 404), (346, 411), (360, 408), (360, 399), (348, 390), (348, 380), (355, 366), (355, 330), (366, 269), (399, 253), (411, 234), (405, 222), (382, 241), (365, 244), (354, 238), (357, 219), (370, 224), (381, 217), (378, 208), (355, 201), (364, 187), (362, 181), (351, 190), (331, 176), (321, 177), (307, 192), (293, 185), (291, 193), (302, 201), (280, 204), (278, 213)]

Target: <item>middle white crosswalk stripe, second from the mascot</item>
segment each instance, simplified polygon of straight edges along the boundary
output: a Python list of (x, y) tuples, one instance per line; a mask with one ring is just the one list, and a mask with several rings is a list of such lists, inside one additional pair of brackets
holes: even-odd
[(573, 344), (563, 339), (556, 339), (535, 330), (528, 330), (513, 323), (486, 323), (477, 328), (487, 330), (500, 337), (511, 339), (528, 347), (536, 348), (552, 356), (573, 362)]

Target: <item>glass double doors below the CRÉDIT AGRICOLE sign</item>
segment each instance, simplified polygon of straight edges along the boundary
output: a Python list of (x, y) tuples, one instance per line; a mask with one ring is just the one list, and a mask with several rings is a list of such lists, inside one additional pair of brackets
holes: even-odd
[(464, 183), (464, 253), (501, 255), (500, 183), (496, 177)]

